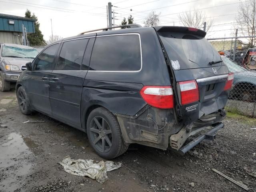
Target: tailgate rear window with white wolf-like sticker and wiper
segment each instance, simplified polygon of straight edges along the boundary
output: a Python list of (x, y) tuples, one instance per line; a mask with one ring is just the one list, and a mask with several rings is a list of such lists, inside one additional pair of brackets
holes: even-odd
[[(174, 70), (212, 67), (220, 54), (202, 36), (177, 32), (158, 32)], [(224, 65), (224, 62), (213, 66)]]

